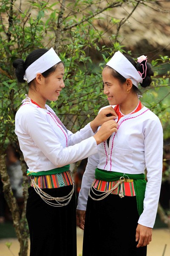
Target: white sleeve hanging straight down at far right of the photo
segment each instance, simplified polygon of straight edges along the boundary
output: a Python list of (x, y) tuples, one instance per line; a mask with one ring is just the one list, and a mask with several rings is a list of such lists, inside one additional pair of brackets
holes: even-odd
[(163, 161), (163, 131), (159, 118), (150, 120), (144, 129), (144, 157), (147, 169), (147, 186), (144, 211), (138, 223), (153, 227), (159, 202)]

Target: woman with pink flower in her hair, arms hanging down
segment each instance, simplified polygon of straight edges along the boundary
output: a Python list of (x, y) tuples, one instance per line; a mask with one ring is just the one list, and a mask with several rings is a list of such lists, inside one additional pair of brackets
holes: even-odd
[(146, 256), (152, 240), (163, 134), (159, 118), (139, 100), (138, 83), (149, 86), (150, 76), (145, 56), (136, 63), (121, 52), (102, 71), (104, 94), (114, 105), (118, 129), (88, 158), (82, 178), (77, 224), (84, 229), (83, 256)]

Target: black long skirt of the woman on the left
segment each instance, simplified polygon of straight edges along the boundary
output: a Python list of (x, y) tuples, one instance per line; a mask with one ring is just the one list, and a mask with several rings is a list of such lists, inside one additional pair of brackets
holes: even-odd
[[(68, 195), (72, 186), (43, 189), (54, 197)], [(33, 187), (28, 189), (26, 218), (30, 232), (30, 256), (77, 256), (75, 192), (68, 205), (45, 203)]]

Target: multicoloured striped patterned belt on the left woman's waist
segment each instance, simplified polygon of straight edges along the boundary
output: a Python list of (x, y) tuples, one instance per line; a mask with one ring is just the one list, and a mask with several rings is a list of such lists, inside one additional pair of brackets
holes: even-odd
[[(57, 188), (73, 185), (70, 171), (51, 175), (35, 176), (34, 181), (40, 188)], [(32, 182), (31, 187), (33, 187)]]

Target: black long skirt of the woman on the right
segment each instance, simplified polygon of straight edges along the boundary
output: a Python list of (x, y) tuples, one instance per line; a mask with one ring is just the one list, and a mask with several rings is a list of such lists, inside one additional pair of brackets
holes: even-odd
[(138, 219), (136, 196), (88, 197), (82, 256), (146, 256), (147, 246), (136, 248)]

